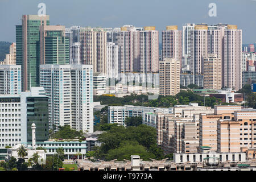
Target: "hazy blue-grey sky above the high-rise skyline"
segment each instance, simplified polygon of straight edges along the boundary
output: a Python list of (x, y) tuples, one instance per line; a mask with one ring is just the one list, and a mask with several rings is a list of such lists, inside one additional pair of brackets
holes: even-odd
[[(256, 0), (0, 0), (0, 41), (15, 42), (15, 25), (23, 14), (38, 14), (46, 4), (50, 24), (66, 27), (156, 26), (184, 23), (229, 23), (242, 29), (243, 43), (256, 42)], [(209, 17), (209, 3), (216, 3), (217, 16)], [(161, 35), (161, 34), (160, 34)]]

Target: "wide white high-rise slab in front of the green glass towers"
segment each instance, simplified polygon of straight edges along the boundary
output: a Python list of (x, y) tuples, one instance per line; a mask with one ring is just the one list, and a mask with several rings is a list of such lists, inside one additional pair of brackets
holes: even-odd
[(93, 133), (93, 65), (40, 65), (49, 97), (49, 127), (69, 125)]

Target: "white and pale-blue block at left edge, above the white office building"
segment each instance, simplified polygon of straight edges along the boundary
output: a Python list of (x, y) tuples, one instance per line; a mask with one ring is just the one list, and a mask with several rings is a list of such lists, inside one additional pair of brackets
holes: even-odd
[(20, 94), (21, 89), (21, 66), (0, 65), (0, 94)]

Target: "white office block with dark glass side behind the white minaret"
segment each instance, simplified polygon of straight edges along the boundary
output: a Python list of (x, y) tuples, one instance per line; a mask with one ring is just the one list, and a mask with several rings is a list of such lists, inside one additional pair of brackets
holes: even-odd
[(48, 97), (43, 88), (31, 87), (20, 95), (0, 95), (1, 146), (31, 142), (31, 124), (36, 123), (36, 141), (48, 140)]

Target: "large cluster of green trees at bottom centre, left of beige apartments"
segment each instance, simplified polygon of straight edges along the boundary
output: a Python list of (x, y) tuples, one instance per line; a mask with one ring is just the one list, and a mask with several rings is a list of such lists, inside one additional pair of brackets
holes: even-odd
[(102, 144), (94, 155), (103, 160), (129, 160), (131, 155), (140, 155), (143, 160), (163, 159), (163, 151), (156, 144), (156, 131), (153, 127), (108, 125), (108, 132), (98, 137)]

